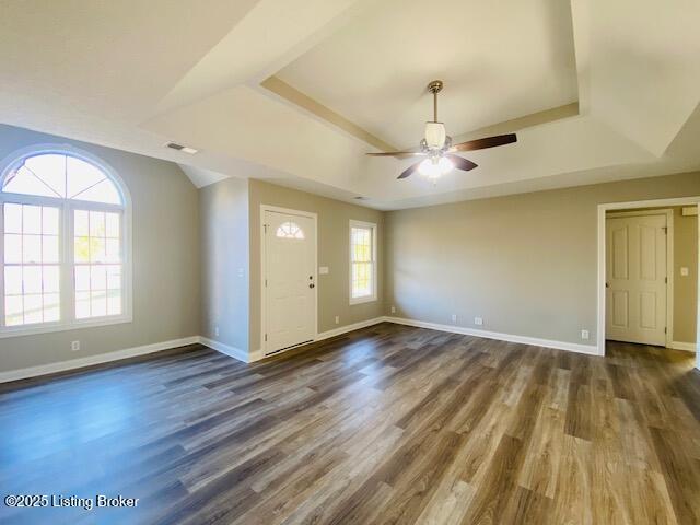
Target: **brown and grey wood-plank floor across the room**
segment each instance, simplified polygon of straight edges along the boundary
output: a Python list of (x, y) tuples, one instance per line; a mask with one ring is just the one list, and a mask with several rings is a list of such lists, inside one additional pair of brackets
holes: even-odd
[(188, 351), (0, 394), (9, 523), (700, 523), (700, 376), (383, 324), (246, 365)]

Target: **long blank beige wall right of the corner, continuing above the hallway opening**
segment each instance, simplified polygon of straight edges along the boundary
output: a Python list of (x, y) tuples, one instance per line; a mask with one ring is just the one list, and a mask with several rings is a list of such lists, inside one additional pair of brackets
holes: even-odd
[(699, 195), (693, 173), (388, 212), (385, 312), (595, 345), (597, 205)]

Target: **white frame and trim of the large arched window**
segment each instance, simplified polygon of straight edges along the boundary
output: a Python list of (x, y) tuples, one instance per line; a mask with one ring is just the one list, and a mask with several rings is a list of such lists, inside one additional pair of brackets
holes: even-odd
[[(0, 191), (0, 209), (5, 202), (19, 202), (37, 206), (52, 206), (61, 209), (61, 224), (59, 236), (61, 238), (61, 316), (62, 319), (55, 323), (37, 323), (20, 326), (0, 326), (0, 339), (8, 337), (32, 336), (37, 334), (50, 334), (55, 331), (77, 330), (83, 328), (95, 328), (100, 326), (119, 325), (133, 322), (132, 301), (132, 250), (131, 250), (131, 196), (127, 186), (117, 172), (98, 156), (70, 144), (35, 144), (28, 148), (16, 150), (12, 154), (0, 161), (0, 188), (5, 176), (14, 170), (27, 156), (46, 153), (69, 154), (85, 162), (96, 165), (104, 171), (115, 183), (121, 196), (122, 205), (106, 205), (81, 200), (61, 199), (58, 197), (42, 197), (35, 195), (11, 194)], [(121, 214), (122, 235), (122, 258), (121, 258), (121, 315), (108, 315), (104, 317), (91, 317), (88, 319), (75, 319), (74, 313), (74, 277), (73, 277), (73, 253), (69, 247), (70, 242), (66, 241), (66, 235), (72, 232), (73, 210), (101, 210), (118, 211)], [(0, 212), (0, 232), (4, 233), (2, 224), (3, 213)], [(4, 319), (4, 242), (0, 242), (0, 319)]]

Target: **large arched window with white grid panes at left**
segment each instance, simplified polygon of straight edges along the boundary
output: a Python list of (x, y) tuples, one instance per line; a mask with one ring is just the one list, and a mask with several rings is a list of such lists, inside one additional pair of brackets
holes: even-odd
[(116, 173), (69, 147), (0, 168), (0, 335), (130, 320), (130, 209)]

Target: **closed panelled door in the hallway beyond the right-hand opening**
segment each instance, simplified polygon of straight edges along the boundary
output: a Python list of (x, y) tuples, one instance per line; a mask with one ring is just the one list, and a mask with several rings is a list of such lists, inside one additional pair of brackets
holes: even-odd
[(666, 215), (608, 218), (606, 338), (666, 345)]

